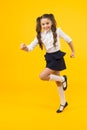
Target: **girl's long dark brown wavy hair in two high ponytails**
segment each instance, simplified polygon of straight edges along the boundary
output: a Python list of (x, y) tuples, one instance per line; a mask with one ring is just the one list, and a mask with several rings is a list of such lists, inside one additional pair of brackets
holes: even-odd
[(48, 18), (52, 21), (52, 27), (51, 30), (53, 32), (53, 38), (54, 38), (54, 43), (53, 45), (56, 46), (56, 41), (57, 41), (57, 34), (56, 34), (56, 20), (54, 18), (53, 14), (43, 14), (41, 17), (38, 17), (36, 19), (36, 32), (37, 32), (37, 39), (38, 43), (40, 45), (40, 48), (43, 49), (43, 43), (41, 41), (41, 19), (42, 18)]

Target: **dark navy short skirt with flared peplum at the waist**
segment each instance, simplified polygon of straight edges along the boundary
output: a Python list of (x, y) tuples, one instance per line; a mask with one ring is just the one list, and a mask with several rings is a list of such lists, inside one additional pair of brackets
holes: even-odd
[(46, 67), (52, 70), (61, 71), (66, 69), (66, 64), (64, 60), (65, 52), (57, 51), (52, 53), (46, 53), (45, 60), (46, 60)]

